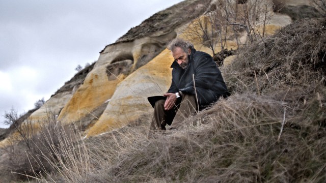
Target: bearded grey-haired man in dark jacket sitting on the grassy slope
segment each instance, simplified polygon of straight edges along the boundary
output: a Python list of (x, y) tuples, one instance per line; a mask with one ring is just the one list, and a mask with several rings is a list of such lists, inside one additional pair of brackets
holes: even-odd
[[(151, 130), (182, 128), (185, 118), (230, 93), (221, 71), (213, 58), (194, 45), (180, 38), (174, 39), (168, 49), (174, 57), (171, 65), (172, 83), (166, 99), (155, 102)], [(150, 99), (149, 99), (150, 100)]]

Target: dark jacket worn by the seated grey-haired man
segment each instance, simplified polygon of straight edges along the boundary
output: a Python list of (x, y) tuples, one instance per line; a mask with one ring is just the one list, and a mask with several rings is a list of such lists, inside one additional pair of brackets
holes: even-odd
[(196, 95), (194, 75), (200, 109), (216, 102), (221, 96), (226, 98), (230, 95), (221, 71), (209, 54), (192, 49), (188, 60), (186, 69), (182, 69), (176, 61), (171, 65), (172, 83), (168, 93), (181, 91), (185, 94)]

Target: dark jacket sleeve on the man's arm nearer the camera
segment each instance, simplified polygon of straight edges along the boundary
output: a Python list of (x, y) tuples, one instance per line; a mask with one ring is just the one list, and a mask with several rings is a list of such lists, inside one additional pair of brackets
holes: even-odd
[[(215, 80), (221, 74), (212, 57), (208, 54), (201, 54), (194, 58), (195, 85), (196, 88), (210, 89)], [(193, 76), (191, 76), (193, 77)], [(198, 90), (198, 89), (197, 89)], [(195, 94), (194, 81), (188, 82), (181, 92)]]

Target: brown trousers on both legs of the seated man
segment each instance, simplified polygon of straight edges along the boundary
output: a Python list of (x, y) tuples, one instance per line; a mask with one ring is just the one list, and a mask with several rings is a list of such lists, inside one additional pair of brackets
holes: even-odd
[(166, 130), (168, 124), (171, 129), (181, 129), (184, 120), (196, 112), (195, 96), (184, 94), (181, 102), (175, 104), (170, 110), (164, 109), (165, 100), (159, 100), (155, 103), (153, 120), (150, 130)]

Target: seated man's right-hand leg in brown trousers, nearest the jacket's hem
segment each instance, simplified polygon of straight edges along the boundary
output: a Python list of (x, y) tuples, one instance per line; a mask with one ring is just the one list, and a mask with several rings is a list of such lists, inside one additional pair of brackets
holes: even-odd
[(196, 112), (196, 107), (195, 96), (184, 94), (179, 110), (172, 121), (171, 129), (180, 129), (184, 124), (184, 120)]

